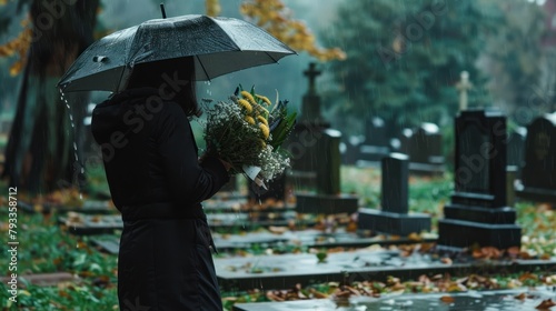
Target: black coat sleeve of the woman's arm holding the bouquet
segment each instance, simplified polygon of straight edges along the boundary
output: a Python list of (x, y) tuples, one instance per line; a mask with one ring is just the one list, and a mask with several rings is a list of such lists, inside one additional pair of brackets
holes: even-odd
[(229, 181), (224, 164), (207, 158), (199, 164), (189, 120), (177, 103), (165, 103), (159, 121), (159, 152), (168, 187), (179, 203), (195, 204), (212, 197)]

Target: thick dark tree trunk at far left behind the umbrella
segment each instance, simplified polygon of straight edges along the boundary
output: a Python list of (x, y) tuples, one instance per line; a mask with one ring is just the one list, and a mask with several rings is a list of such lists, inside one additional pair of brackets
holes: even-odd
[(82, 119), (88, 94), (66, 96), (68, 109), (56, 83), (93, 41), (98, 6), (99, 0), (31, 3), (33, 40), (2, 172), (10, 185), (39, 193), (83, 181), (82, 157), (73, 146), (80, 147), (85, 137)]

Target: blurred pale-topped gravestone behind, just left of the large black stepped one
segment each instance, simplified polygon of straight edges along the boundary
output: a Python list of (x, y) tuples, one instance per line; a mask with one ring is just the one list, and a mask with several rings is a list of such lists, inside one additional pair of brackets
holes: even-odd
[(399, 152), (409, 156), (409, 171), (418, 174), (443, 174), (443, 137), (438, 126), (425, 122), (417, 129), (405, 129)]

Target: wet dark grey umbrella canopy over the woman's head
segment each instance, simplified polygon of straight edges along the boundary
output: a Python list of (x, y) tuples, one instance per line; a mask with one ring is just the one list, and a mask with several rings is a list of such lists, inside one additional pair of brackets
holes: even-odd
[(126, 88), (136, 64), (193, 57), (197, 80), (275, 63), (296, 52), (252, 23), (191, 14), (113, 32), (85, 50), (61, 78), (64, 92)]

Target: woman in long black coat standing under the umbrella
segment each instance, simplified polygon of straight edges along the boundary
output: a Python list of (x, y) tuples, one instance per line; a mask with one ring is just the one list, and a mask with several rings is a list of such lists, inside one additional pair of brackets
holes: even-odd
[(121, 310), (221, 310), (201, 202), (228, 182), (229, 164), (198, 160), (191, 58), (133, 68), (125, 91), (95, 108), (112, 200), (123, 231)]

